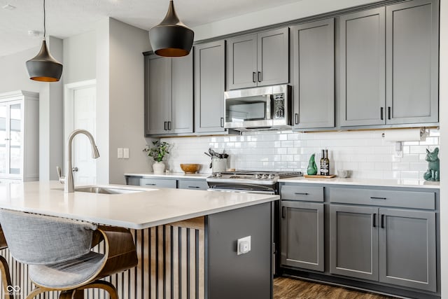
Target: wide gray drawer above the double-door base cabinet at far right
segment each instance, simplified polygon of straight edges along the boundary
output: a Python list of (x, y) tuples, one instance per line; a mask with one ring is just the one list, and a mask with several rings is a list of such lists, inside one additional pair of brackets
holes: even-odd
[(435, 209), (435, 193), (361, 188), (330, 188), (330, 202)]

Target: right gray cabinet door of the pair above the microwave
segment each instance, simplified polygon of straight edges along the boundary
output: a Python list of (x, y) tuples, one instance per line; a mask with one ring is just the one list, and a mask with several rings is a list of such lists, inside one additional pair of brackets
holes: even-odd
[(289, 83), (289, 28), (258, 34), (258, 86)]

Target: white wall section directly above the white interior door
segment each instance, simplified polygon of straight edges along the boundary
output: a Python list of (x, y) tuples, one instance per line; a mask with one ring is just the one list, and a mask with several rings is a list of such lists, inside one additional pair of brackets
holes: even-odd
[(97, 76), (95, 31), (64, 39), (64, 84), (87, 81)]

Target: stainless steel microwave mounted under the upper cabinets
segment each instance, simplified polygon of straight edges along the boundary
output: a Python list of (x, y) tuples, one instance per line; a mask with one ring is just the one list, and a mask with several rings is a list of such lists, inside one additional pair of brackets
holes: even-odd
[(225, 128), (289, 130), (292, 125), (290, 85), (224, 92)]

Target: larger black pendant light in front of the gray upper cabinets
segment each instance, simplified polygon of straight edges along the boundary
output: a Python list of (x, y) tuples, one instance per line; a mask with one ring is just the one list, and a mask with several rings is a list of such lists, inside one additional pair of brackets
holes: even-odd
[(149, 41), (155, 54), (165, 57), (181, 57), (190, 53), (195, 33), (179, 20), (173, 0), (165, 19), (149, 31)]

